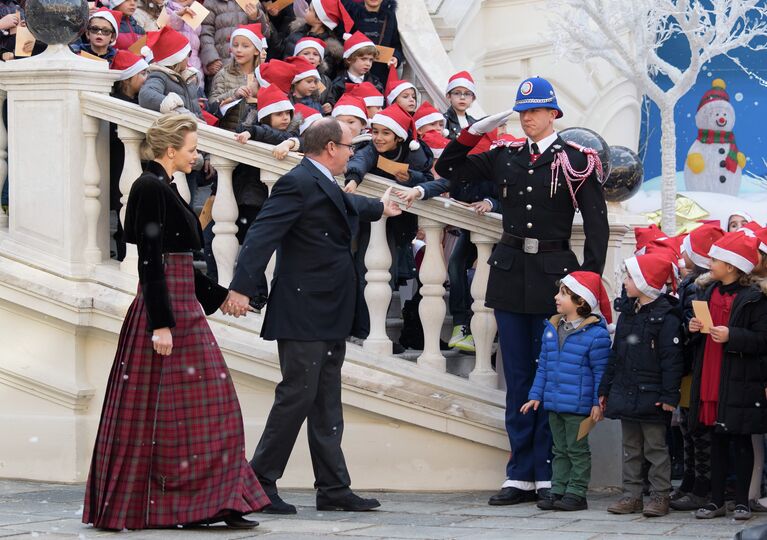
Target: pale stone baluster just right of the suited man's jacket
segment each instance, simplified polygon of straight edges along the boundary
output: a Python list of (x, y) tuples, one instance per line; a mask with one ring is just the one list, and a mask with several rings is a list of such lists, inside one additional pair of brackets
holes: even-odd
[(370, 334), (362, 345), (374, 354), (392, 353), (392, 343), (386, 333), (386, 315), (391, 302), (391, 251), (386, 241), (386, 218), (370, 224), (370, 242), (365, 252), (365, 302), (370, 314)]

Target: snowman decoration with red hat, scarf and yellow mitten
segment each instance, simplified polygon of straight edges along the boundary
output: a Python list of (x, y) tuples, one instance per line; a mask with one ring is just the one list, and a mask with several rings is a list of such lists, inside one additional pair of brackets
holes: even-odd
[(698, 137), (687, 152), (684, 183), (688, 191), (737, 196), (746, 156), (735, 145), (735, 109), (722, 79), (703, 94), (695, 113)]

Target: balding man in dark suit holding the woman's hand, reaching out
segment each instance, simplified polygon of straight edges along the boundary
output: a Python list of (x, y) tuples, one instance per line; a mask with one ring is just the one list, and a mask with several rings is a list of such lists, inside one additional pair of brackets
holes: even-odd
[(251, 461), (272, 504), (264, 511), (294, 514), (277, 494), (296, 437), (307, 420), (317, 510), (363, 511), (380, 506), (351, 489), (341, 437), (341, 365), (354, 319), (356, 274), (351, 241), (360, 221), (401, 213), (389, 200), (347, 194), (333, 178), (353, 153), (349, 126), (334, 118), (304, 134), (306, 157), (280, 178), (245, 236), (230, 285), (227, 313), (240, 316), (251, 299), (267, 297), (258, 277), (277, 251), (261, 336), (277, 340), (282, 381)]

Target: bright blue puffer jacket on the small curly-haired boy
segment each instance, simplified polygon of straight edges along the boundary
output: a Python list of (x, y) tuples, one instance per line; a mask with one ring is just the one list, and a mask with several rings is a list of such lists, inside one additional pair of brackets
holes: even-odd
[(547, 411), (591, 414), (599, 405), (599, 383), (610, 361), (610, 333), (604, 319), (591, 315), (559, 346), (562, 315), (544, 323), (541, 353), (528, 399), (543, 401)]

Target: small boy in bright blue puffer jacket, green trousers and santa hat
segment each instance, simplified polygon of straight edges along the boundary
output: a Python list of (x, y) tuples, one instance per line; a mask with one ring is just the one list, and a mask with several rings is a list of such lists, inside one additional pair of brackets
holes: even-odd
[[(572, 272), (559, 282), (554, 297), (557, 315), (546, 322), (538, 369), (522, 413), (549, 413), (554, 443), (551, 491), (538, 500), (541, 510), (585, 510), (591, 478), (588, 437), (578, 440), (586, 417), (602, 419), (599, 383), (610, 360), (612, 320), (602, 278), (594, 272)], [(598, 311), (602, 316), (595, 314)]]

